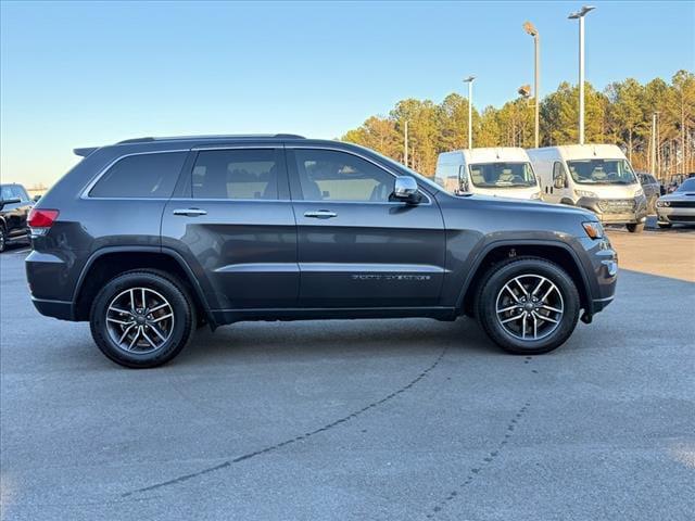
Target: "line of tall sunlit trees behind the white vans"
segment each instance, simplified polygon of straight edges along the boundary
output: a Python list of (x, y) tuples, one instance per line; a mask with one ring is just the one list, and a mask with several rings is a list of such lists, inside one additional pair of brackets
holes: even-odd
[[(561, 82), (541, 100), (541, 147), (578, 140), (579, 88)], [(597, 91), (586, 82), (585, 141), (620, 145), (633, 167), (659, 179), (695, 171), (695, 75), (679, 71), (670, 82), (655, 78), (640, 84), (633, 78)], [(656, 131), (653, 116), (657, 114)], [(375, 149), (404, 162), (404, 125), (408, 122), (408, 165), (434, 175), (441, 152), (468, 145), (468, 100), (451, 93), (441, 103), (431, 100), (399, 101), (388, 116), (371, 116), (349, 130), (343, 141)], [(473, 147), (532, 148), (533, 100), (518, 98), (502, 107), (472, 110)], [(656, 162), (652, 165), (652, 139)]]

